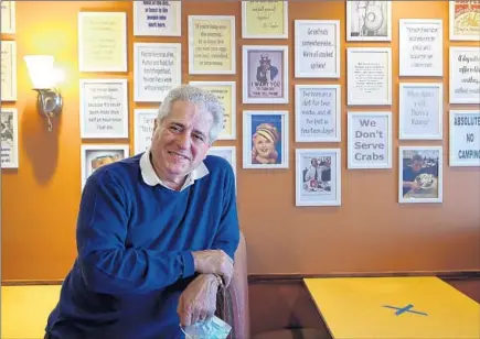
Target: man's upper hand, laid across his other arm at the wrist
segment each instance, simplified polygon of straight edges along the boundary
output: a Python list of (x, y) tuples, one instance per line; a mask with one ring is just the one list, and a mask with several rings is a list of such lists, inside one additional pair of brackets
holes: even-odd
[(233, 260), (222, 250), (205, 250), (192, 252), (195, 271), (222, 275), (225, 287), (233, 276)]

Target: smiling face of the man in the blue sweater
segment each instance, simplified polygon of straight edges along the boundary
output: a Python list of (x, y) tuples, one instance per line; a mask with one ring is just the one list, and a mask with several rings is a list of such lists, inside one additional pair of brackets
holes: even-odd
[(173, 102), (170, 114), (156, 120), (151, 155), (161, 179), (180, 181), (205, 158), (212, 123), (211, 113), (186, 101)]

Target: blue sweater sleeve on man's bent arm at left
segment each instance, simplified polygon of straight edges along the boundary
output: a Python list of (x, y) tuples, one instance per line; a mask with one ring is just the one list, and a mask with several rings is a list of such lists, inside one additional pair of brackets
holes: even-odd
[(160, 289), (194, 273), (189, 251), (126, 248), (127, 195), (108, 171), (90, 176), (77, 220), (78, 264), (86, 285), (108, 294)]

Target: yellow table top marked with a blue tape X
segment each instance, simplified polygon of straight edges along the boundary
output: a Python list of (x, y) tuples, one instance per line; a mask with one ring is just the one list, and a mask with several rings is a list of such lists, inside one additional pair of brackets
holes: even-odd
[(303, 282), (335, 339), (480, 338), (480, 305), (437, 277)]

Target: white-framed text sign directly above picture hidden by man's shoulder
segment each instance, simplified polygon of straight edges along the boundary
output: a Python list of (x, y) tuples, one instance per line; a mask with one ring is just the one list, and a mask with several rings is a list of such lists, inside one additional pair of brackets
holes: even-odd
[(127, 79), (81, 79), (83, 139), (128, 138)]

